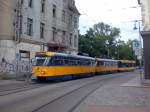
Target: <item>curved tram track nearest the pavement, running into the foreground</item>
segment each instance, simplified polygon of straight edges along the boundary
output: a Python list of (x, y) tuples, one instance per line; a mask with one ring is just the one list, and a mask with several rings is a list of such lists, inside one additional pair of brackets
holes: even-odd
[[(107, 81), (109, 79), (112, 78), (116, 78), (117, 76), (108, 76), (107, 78), (102, 78), (98, 81), (94, 81), (94, 82), (89, 82), (87, 84), (82, 85), (79, 88), (76, 88), (70, 92), (67, 92), (53, 100), (51, 100), (50, 102), (40, 106), (39, 108), (33, 110), (32, 112), (41, 112), (41, 111), (53, 111), (53, 112), (73, 112), (76, 107), (78, 107), (78, 105), (80, 105), (80, 103), (82, 101), (84, 101), (84, 99), (86, 99), (91, 93), (93, 93), (95, 90), (97, 90), (98, 88), (100, 88), (103, 85), (103, 81)], [(121, 77), (121, 76), (119, 76)], [(78, 96), (80, 95), (80, 96)], [(66, 99), (72, 99), (70, 101), (66, 101)], [(75, 99), (74, 99), (75, 98)], [(76, 101), (75, 101), (76, 100)], [(64, 102), (69, 102), (68, 104), (73, 103), (72, 106), (68, 105), (67, 107), (65, 107)], [(67, 104), (66, 103), (66, 104)], [(59, 108), (57, 108), (59, 107)], [(50, 110), (49, 110), (50, 108)], [(65, 110), (63, 111), (63, 108), (65, 108)]]

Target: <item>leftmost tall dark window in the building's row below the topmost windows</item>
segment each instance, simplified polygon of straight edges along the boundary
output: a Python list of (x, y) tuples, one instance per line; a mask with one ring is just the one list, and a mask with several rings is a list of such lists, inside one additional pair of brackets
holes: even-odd
[(33, 35), (33, 19), (28, 18), (27, 20), (27, 35)]

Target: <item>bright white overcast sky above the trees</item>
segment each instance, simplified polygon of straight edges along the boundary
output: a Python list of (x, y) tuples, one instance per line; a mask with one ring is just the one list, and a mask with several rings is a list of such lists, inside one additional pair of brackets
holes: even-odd
[(76, 0), (81, 13), (80, 32), (84, 34), (93, 24), (105, 22), (121, 29), (122, 39), (138, 38), (134, 20), (141, 20), (137, 0)]

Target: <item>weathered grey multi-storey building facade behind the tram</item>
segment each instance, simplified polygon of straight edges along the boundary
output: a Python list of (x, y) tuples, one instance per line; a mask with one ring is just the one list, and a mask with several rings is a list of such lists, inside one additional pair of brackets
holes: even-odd
[(79, 15), (74, 0), (0, 0), (0, 60), (77, 53)]

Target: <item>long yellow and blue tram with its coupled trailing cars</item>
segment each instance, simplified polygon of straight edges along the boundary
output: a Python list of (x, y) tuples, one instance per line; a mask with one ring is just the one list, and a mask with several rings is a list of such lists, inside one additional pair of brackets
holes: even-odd
[[(131, 63), (132, 62), (132, 63)], [(130, 65), (130, 66), (129, 66)], [(32, 80), (71, 80), (133, 70), (134, 61), (97, 59), (55, 52), (36, 53)]]

